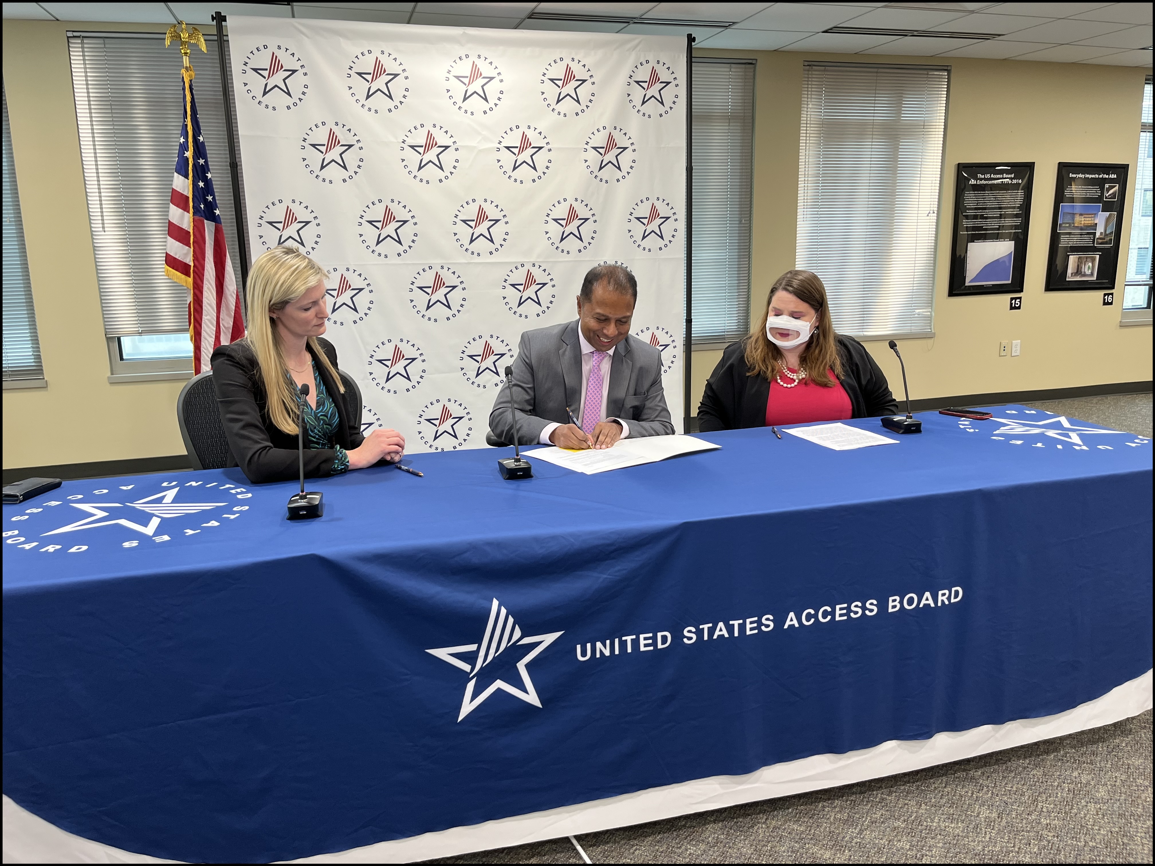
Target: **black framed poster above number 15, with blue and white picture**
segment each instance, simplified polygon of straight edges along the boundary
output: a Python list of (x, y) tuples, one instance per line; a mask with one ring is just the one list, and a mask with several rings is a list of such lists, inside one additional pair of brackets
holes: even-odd
[(959, 163), (947, 294), (1022, 291), (1034, 163)]

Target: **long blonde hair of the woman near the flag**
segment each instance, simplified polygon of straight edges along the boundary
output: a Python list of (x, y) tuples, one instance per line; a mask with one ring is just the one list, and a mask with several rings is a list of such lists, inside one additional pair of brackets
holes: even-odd
[[(325, 282), (325, 269), (295, 247), (281, 246), (264, 253), (248, 273), (248, 336), (245, 339), (256, 356), (269, 420), (285, 433), (297, 433), (298, 397), (293, 391), (289, 367), (281, 346), (281, 335), (270, 313), (280, 313), (318, 283)], [(316, 337), (308, 345), (318, 363), (328, 371), (337, 390), (344, 393), (341, 375), (329, 364)]]

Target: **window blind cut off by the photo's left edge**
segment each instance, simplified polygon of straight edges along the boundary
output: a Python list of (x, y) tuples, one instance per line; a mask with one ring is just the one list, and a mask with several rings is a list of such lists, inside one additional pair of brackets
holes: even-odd
[(3, 89), (3, 381), (44, 379)]

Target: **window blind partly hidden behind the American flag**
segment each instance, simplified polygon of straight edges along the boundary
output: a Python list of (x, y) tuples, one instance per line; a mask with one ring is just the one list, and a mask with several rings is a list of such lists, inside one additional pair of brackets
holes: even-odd
[[(221, 70), (216, 38), (204, 39), (209, 52), (193, 57), (193, 88), (239, 282)], [(164, 275), (184, 100), (179, 52), (165, 48), (161, 33), (69, 33), (68, 54), (104, 333), (186, 331), (188, 290)]]

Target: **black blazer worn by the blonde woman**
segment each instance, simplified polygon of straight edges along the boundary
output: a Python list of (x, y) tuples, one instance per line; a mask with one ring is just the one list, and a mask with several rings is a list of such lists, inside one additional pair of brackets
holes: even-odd
[[(327, 339), (318, 339), (326, 357), (337, 368), (337, 350)], [(312, 346), (308, 353), (313, 354)], [(357, 448), (364, 436), (356, 427), (345, 395), (337, 389), (337, 382), (329, 372), (318, 364), (321, 381), (329, 397), (337, 406), (341, 423), (337, 425), (336, 441), (346, 451)], [(221, 423), (229, 438), (232, 451), (231, 466), (239, 465), (245, 477), (254, 484), (263, 481), (289, 481), (298, 477), (297, 435), (285, 433), (269, 420), (269, 401), (264, 382), (256, 363), (256, 354), (247, 341), (217, 346), (213, 351), (213, 386), (216, 388)], [(331, 448), (311, 449), (305, 442), (305, 477), (323, 478), (331, 475), (333, 461), (337, 457)]]

